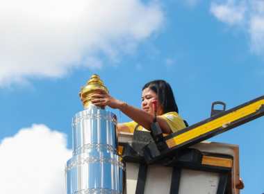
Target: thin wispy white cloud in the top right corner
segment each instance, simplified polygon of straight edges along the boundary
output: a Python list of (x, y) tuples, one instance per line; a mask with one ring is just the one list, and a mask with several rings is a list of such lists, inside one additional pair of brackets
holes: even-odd
[(237, 26), (249, 35), (253, 53), (264, 53), (264, 1), (229, 0), (224, 4), (211, 3), (211, 12), (220, 21)]

